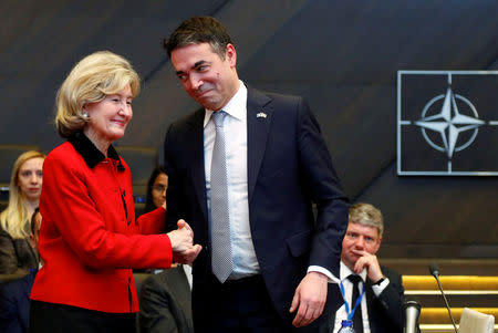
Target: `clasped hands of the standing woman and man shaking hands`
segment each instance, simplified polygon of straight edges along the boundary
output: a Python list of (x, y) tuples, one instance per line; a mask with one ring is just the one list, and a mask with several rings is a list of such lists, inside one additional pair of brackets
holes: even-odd
[(194, 244), (194, 231), (185, 220), (178, 220), (178, 229), (168, 232), (172, 242), (173, 260), (178, 263), (191, 263), (203, 249)]

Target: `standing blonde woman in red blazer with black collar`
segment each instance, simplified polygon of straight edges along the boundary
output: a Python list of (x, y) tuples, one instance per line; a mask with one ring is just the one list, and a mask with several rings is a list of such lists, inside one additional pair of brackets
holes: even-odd
[(40, 254), (31, 332), (134, 332), (133, 269), (191, 262), (200, 251), (185, 221), (167, 235), (163, 207), (135, 220), (132, 177), (112, 142), (132, 119), (139, 79), (111, 52), (84, 58), (56, 96), (55, 124), (68, 142), (43, 165)]

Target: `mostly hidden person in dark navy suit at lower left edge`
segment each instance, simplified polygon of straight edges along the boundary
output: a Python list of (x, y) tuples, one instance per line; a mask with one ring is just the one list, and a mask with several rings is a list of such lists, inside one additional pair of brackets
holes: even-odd
[[(37, 208), (31, 217), (30, 235), (30, 244), (37, 253), (41, 221), (42, 216)], [(38, 269), (30, 269), (24, 278), (0, 285), (0, 332), (29, 332), (30, 293)]]

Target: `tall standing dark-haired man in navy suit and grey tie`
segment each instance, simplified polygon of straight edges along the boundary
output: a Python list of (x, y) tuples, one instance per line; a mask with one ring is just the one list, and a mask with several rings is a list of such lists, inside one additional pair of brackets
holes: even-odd
[(313, 114), (301, 97), (247, 87), (214, 18), (184, 21), (165, 48), (203, 106), (165, 139), (169, 225), (186, 219), (204, 248), (196, 332), (313, 332), (339, 277), (349, 207)]

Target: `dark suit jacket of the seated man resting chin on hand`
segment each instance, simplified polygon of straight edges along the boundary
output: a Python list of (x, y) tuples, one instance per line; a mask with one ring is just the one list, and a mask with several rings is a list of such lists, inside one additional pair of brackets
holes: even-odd
[[(378, 298), (375, 296), (372, 290), (372, 281), (366, 279), (365, 283), (370, 330), (372, 333), (403, 332), (405, 325), (405, 311), (403, 309), (405, 290), (402, 284), (402, 277), (388, 268), (382, 267), (381, 269), (384, 275), (390, 279), (390, 284), (387, 284)], [(344, 304), (339, 285), (333, 283), (330, 287), (336, 291), (330, 292), (328, 301), (331, 304), (329, 320), (321, 327), (320, 333), (333, 332), (335, 312)]]

